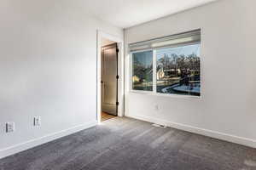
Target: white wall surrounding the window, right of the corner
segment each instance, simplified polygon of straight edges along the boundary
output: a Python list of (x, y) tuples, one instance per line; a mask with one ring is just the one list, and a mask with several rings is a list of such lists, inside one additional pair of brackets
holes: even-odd
[[(129, 93), (125, 115), (256, 147), (253, 0), (220, 0), (125, 30), (125, 45), (201, 28), (201, 99)], [(126, 65), (129, 57), (126, 51)], [(155, 111), (155, 105), (160, 110)]]

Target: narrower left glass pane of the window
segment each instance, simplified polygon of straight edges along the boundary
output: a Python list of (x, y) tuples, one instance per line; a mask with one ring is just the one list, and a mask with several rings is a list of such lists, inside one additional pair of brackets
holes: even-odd
[(153, 90), (153, 51), (132, 54), (132, 89)]

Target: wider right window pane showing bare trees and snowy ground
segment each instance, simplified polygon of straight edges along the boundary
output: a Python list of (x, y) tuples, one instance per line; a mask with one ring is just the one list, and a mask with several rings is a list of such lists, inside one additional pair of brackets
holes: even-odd
[(200, 44), (158, 49), (156, 59), (157, 93), (201, 95)]

